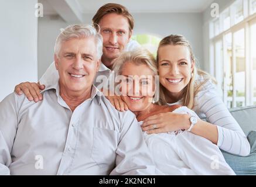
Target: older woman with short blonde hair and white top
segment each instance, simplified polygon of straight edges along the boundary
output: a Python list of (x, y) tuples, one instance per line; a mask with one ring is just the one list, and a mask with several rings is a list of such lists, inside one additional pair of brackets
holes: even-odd
[[(166, 112), (183, 113), (187, 121), (191, 116), (194, 120), (198, 118), (196, 113), (185, 106), (154, 103), (158, 69), (148, 51), (121, 54), (115, 60), (113, 70), (116, 79), (120, 80), (117, 88), (121, 98), (134, 112), (139, 124), (149, 116)], [(155, 128), (156, 125), (153, 125), (152, 129)], [(166, 175), (234, 175), (219, 147), (202, 136), (190, 133), (189, 129), (158, 134), (144, 132), (144, 136), (156, 167)]]

